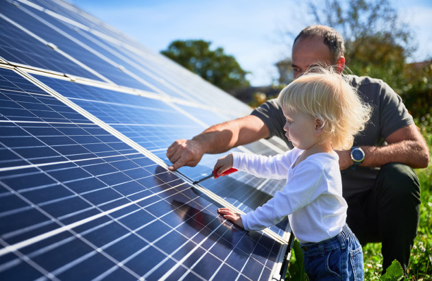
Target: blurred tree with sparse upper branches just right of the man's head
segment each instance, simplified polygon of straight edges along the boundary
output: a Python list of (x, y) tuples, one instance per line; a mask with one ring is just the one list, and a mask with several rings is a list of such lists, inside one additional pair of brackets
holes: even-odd
[(345, 39), (348, 68), (357, 75), (381, 78), (400, 93), (406, 59), (416, 49), (412, 32), (388, 0), (309, 3), (317, 23), (335, 28)]

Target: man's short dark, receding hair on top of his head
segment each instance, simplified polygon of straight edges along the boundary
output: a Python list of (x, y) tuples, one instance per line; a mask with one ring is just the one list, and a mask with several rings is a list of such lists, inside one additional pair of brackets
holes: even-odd
[(300, 34), (298, 34), (294, 40), (294, 44), (296, 44), (296, 41), (303, 38), (313, 37), (323, 38), (324, 44), (328, 47), (328, 49), (330, 49), (334, 64), (336, 64), (337, 60), (341, 56), (344, 56), (344, 38), (339, 32), (336, 31), (336, 29), (326, 25), (309, 25), (308, 27), (304, 28)]

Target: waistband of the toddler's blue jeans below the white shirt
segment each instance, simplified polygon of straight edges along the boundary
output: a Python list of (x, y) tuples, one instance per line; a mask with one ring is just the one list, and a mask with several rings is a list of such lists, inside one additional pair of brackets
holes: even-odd
[(326, 239), (317, 243), (300, 243), (300, 247), (303, 249), (304, 254), (323, 254), (324, 252), (331, 251), (333, 249), (345, 249), (346, 242), (352, 236), (352, 231), (347, 224), (344, 225), (341, 232), (336, 236)]

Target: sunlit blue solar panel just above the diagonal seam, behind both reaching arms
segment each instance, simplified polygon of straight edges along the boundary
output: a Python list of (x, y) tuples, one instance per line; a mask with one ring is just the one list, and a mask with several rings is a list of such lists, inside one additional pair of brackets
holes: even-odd
[[(180, 124), (193, 124), (191, 119), (184, 117), (180, 112), (176, 112), (167, 103), (150, 99), (147, 97), (140, 97), (136, 95), (130, 95), (126, 93), (119, 93), (113, 90), (99, 89), (86, 85), (79, 85), (62, 80), (55, 80), (53, 78), (42, 77), (35, 75), (38, 80), (44, 82), (54, 90), (65, 97), (72, 97), (72, 100), (88, 112), (91, 112), (95, 117), (102, 121), (112, 125), (116, 130), (125, 134), (136, 143), (139, 143), (147, 150), (154, 152), (158, 157), (165, 160), (169, 164), (165, 156), (167, 147), (171, 144), (172, 140), (176, 138), (187, 137), (184, 125)], [(68, 86), (73, 84), (73, 86)], [(82, 101), (77, 97), (76, 93), (80, 96), (87, 97), (85, 101)], [(93, 100), (94, 99), (94, 100)], [(101, 101), (97, 101), (100, 99)], [(112, 103), (110, 101), (113, 101)], [(184, 108), (185, 112), (191, 112), (193, 117), (196, 117), (200, 121), (214, 121), (217, 120), (215, 114), (208, 114), (205, 110), (200, 108)], [(142, 112), (146, 112), (145, 115)], [(206, 117), (210, 115), (210, 117)], [(214, 118), (212, 118), (214, 117)], [(226, 119), (219, 119), (217, 122), (226, 121)], [(135, 124), (135, 125), (131, 125)], [(195, 123), (196, 124), (196, 123)], [(190, 136), (202, 131), (202, 126), (197, 125), (190, 127)], [(260, 154), (269, 154), (269, 148), (265, 145), (259, 144), (251, 145), (254, 147), (254, 151), (259, 151)], [(201, 178), (203, 174), (209, 173), (213, 169), (213, 165), (217, 160), (218, 156), (205, 156), (207, 159), (202, 161), (198, 167), (193, 169), (182, 169), (182, 173), (187, 175), (189, 178)], [(221, 182), (218, 180), (215, 182), (203, 182), (202, 186), (205, 186), (213, 193), (219, 195), (221, 198), (226, 199), (234, 206), (243, 205), (243, 199), (251, 204), (250, 206), (243, 206), (242, 210), (248, 212), (254, 208), (261, 206), (265, 201), (273, 195), (277, 190), (284, 186), (285, 181), (272, 180), (264, 182), (260, 188), (262, 191), (256, 190), (247, 182), (254, 181), (254, 184), (260, 186), (259, 181), (256, 180), (252, 175), (243, 175), (239, 180), (225, 180)], [(232, 191), (237, 192), (232, 192)], [(265, 195), (265, 196), (263, 196)], [(286, 228), (286, 222), (283, 225), (279, 225), (275, 228), (276, 233), (284, 232)]]

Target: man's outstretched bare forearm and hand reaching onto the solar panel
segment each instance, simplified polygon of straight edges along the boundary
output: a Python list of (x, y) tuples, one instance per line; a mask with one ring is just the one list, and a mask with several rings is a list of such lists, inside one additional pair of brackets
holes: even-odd
[(222, 153), (232, 147), (268, 137), (267, 126), (254, 115), (213, 125), (191, 140), (180, 139), (170, 145), (167, 157), (173, 164), (169, 169), (175, 171), (183, 166), (194, 167), (205, 153)]

